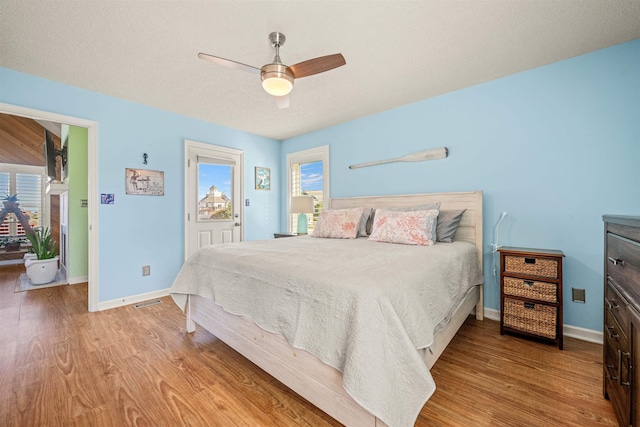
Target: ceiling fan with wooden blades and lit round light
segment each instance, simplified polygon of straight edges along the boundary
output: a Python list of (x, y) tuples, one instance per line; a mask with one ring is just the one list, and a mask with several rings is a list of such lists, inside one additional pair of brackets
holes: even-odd
[(231, 59), (220, 58), (219, 56), (209, 55), (207, 53), (198, 53), (198, 58), (211, 61), (214, 64), (231, 67), (253, 74), (260, 74), (262, 87), (269, 94), (276, 98), (278, 108), (287, 108), (289, 106), (289, 92), (293, 89), (294, 79), (312, 76), (314, 74), (323, 73), (341, 67), (347, 62), (341, 53), (333, 55), (320, 56), (318, 58), (309, 59), (299, 62), (295, 65), (284, 65), (280, 60), (280, 47), (284, 44), (286, 37), (282, 33), (273, 32), (269, 34), (269, 42), (274, 47), (276, 55), (273, 62), (262, 66), (262, 68), (253, 67), (241, 62), (232, 61)]

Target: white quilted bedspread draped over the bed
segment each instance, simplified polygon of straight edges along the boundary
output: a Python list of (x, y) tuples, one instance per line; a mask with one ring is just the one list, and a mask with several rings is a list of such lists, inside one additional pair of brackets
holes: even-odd
[(435, 383), (416, 349), (482, 274), (473, 245), (408, 246), (292, 237), (191, 256), (171, 288), (213, 299), (343, 373), (345, 390), (390, 426), (412, 426)]

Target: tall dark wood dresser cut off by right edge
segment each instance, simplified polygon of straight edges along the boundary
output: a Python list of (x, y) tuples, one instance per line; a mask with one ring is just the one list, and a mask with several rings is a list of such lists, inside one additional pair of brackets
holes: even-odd
[(604, 397), (640, 426), (640, 217), (603, 215)]

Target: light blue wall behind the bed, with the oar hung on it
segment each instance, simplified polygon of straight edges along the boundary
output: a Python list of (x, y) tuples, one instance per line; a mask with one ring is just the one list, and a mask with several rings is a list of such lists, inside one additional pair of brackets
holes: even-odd
[(565, 323), (602, 329), (601, 216), (640, 214), (640, 40), (286, 140), (280, 160), (325, 144), (332, 197), (482, 190), (485, 305), (499, 308), (490, 244), (507, 211), (500, 244), (564, 251)]

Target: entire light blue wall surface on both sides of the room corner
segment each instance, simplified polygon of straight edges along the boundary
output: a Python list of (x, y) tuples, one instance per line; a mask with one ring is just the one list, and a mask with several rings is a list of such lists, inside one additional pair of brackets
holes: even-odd
[[(245, 152), (246, 240), (284, 230), (286, 154), (331, 146), (333, 197), (484, 191), (485, 301), (497, 308), (489, 245), (561, 249), (565, 323), (600, 330), (604, 213), (640, 214), (640, 40), (355, 120), (282, 144), (0, 68), (0, 102), (98, 122), (99, 300), (170, 286), (183, 259), (183, 140)], [(212, 101), (215, 102), (215, 101)], [(358, 170), (348, 165), (447, 146), (450, 156)], [(165, 196), (127, 196), (124, 170), (165, 172)], [(254, 166), (273, 190), (255, 191)], [(151, 265), (151, 276), (141, 266)], [(587, 303), (570, 302), (571, 287)]]

